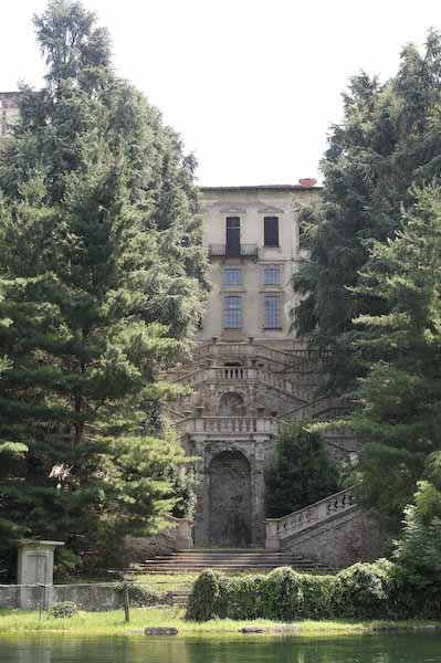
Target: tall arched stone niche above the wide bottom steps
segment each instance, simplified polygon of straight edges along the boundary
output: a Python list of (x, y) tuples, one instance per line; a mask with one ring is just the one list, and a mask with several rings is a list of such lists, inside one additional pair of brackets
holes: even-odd
[(209, 538), (219, 547), (251, 543), (251, 470), (239, 451), (222, 451), (209, 467)]

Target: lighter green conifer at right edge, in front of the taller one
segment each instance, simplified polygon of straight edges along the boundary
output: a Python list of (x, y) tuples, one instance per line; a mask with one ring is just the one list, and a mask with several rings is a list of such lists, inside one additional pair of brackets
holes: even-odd
[(371, 357), (350, 425), (365, 440), (365, 502), (398, 526), (432, 453), (441, 450), (441, 189), (412, 190), (402, 230), (375, 244), (356, 292), (385, 303), (355, 319)]

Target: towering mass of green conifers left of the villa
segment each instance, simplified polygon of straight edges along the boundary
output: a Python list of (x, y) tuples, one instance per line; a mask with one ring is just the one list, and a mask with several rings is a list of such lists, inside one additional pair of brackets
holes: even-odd
[(186, 350), (204, 257), (195, 159), (115, 75), (106, 30), (71, 0), (34, 23), (45, 86), (21, 88), (0, 159), (0, 440), (22, 453), (0, 504), (78, 552), (174, 504), (158, 372)]

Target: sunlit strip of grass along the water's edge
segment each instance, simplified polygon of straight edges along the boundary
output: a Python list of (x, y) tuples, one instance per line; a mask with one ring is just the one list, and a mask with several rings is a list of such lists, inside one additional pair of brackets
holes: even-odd
[[(381, 628), (412, 629), (428, 625), (428, 622), (345, 622), (345, 621), (300, 621), (284, 624), (270, 620), (234, 621), (211, 620), (203, 623), (186, 622), (183, 610), (178, 608), (137, 608), (130, 610), (130, 623), (124, 621), (122, 610), (113, 612), (80, 612), (70, 619), (54, 619), (38, 611), (0, 610), (0, 636), (18, 633), (64, 633), (82, 636), (132, 635), (147, 627), (176, 627), (180, 635), (228, 635), (239, 633), (244, 627), (262, 627), (274, 630), (283, 627), (298, 627), (295, 634), (301, 636), (349, 635), (366, 633)], [(429, 625), (435, 625), (433, 622)], [(286, 628), (286, 631), (288, 629)]]

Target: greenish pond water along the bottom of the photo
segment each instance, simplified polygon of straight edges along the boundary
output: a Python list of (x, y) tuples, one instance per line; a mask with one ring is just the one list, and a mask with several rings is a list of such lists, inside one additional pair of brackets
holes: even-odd
[(0, 638), (1, 663), (441, 663), (441, 635)]

